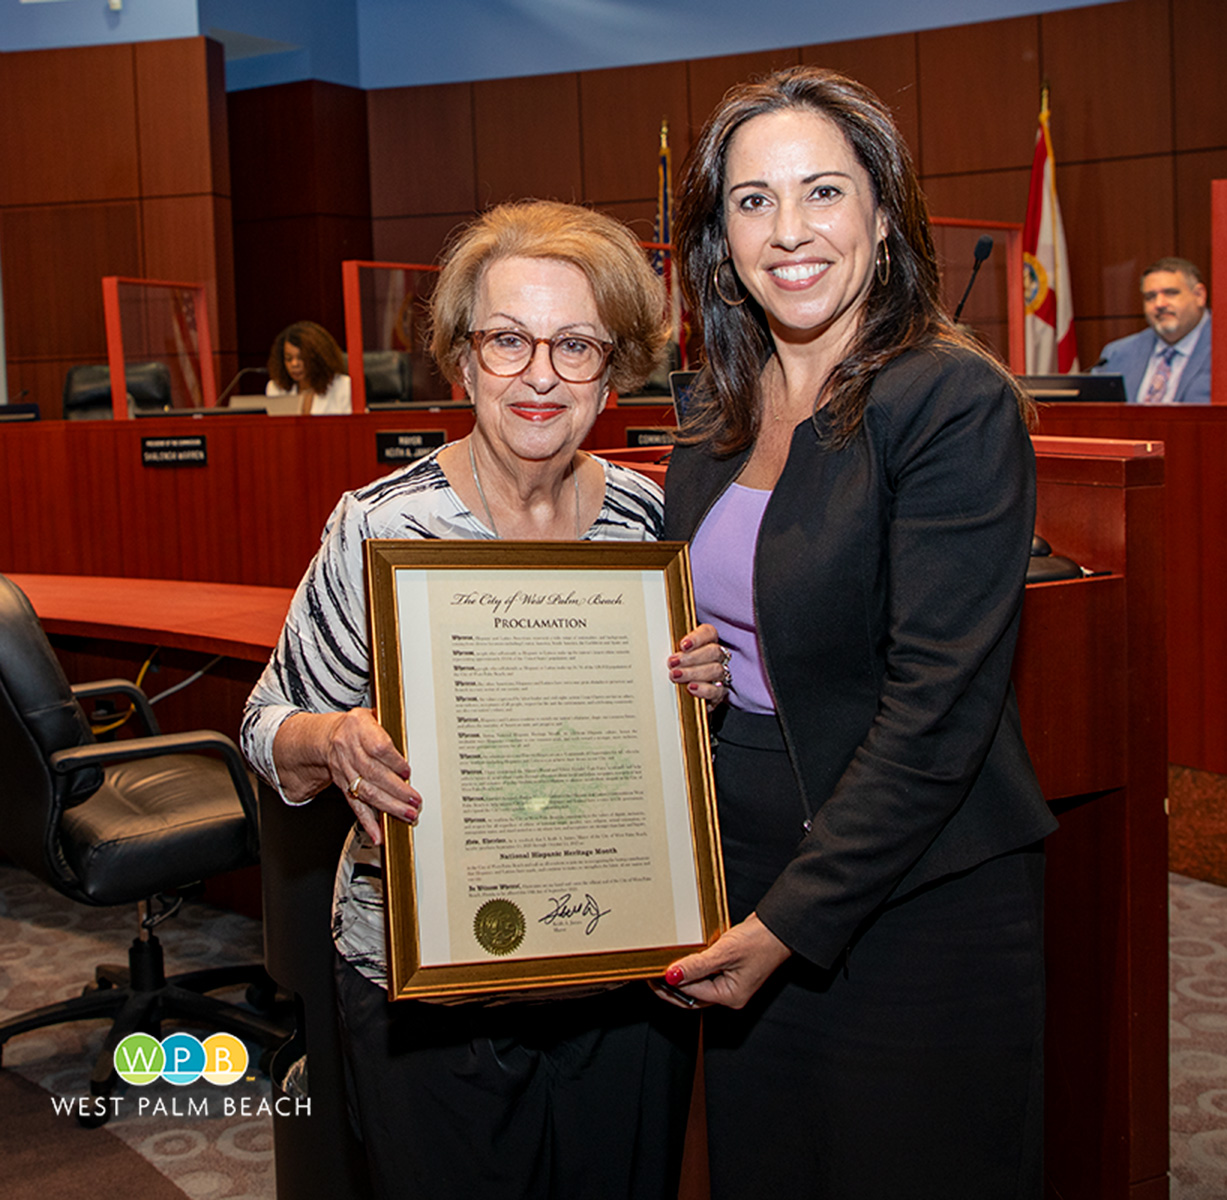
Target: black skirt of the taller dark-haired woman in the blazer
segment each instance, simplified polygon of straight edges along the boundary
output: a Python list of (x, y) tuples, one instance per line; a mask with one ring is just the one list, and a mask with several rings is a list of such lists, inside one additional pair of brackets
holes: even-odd
[[(730, 710), (715, 782), (735, 921), (806, 813), (774, 717)], [(885, 904), (829, 969), (794, 957), (703, 1044), (714, 1200), (1034, 1200), (1043, 852)]]

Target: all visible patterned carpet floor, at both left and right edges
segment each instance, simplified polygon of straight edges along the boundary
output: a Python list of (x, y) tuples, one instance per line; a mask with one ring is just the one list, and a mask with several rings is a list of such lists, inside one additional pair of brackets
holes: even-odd
[[(1227, 887), (1169, 877), (1172, 1200), (1227, 1196)], [(87, 909), (0, 864), (0, 1020), (74, 994), (96, 963), (120, 962), (126, 909)], [(169, 971), (256, 958), (254, 920), (205, 904), (161, 930)], [(0, 1071), (6, 1200), (276, 1200), (269, 1083), (255, 1071), (228, 1088), (166, 1082), (126, 1088), (120, 1113), (82, 1130), (53, 1097), (80, 1097), (102, 1022), (21, 1034)], [(234, 1102), (225, 1115), (221, 1096)], [(139, 1101), (145, 1098), (145, 1112)], [(249, 1109), (239, 1109), (244, 1102)], [(161, 1101), (161, 1106), (158, 1102)], [(190, 1115), (193, 1101), (196, 1113)], [(207, 1117), (200, 1114), (205, 1102)], [(157, 1109), (161, 1107), (161, 1112)]]

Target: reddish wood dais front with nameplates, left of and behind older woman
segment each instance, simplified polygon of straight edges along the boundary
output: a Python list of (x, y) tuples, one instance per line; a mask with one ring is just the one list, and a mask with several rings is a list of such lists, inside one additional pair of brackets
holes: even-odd
[[(609, 409), (585, 445), (666, 420)], [(0, 572), (293, 587), (341, 493), (394, 469), (375, 432), (471, 427), (467, 407), (0, 425)], [(184, 434), (205, 437), (207, 465), (141, 465), (142, 438)]]

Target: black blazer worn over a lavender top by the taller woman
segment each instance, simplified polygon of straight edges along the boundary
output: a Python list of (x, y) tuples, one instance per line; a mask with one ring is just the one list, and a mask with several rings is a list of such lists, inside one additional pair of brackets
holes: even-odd
[[(814, 813), (757, 907), (833, 964), (881, 903), (1055, 828), (1010, 669), (1034, 525), (1034, 454), (1004, 380), (956, 348), (877, 377), (842, 450), (793, 434), (755, 560), (758, 645)], [(688, 539), (748, 452), (677, 447), (665, 537)]]

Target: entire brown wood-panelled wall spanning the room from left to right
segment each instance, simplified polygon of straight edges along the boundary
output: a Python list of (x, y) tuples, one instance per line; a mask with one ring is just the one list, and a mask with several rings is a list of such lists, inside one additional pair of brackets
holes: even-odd
[(1209, 265), (1225, 55), (1220, 0), (369, 92), (306, 81), (227, 97), (204, 38), (0, 54), (10, 394), (28, 388), (58, 412), (64, 371), (102, 360), (104, 274), (204, 279), (226, 380), (239, 361), (263, 363), (291, 320), (340, 330), (342, 259), (429, 261), (498, 200), (578, 200), (648, 238), (661, 118), (680, 166), (726, 87), (793, 63), (844, 70), (893, 106), (935, 213), (999, 221), (1022, 220), (1048, 80), (1093, 362), (1141, 326), (1148, 261)]

